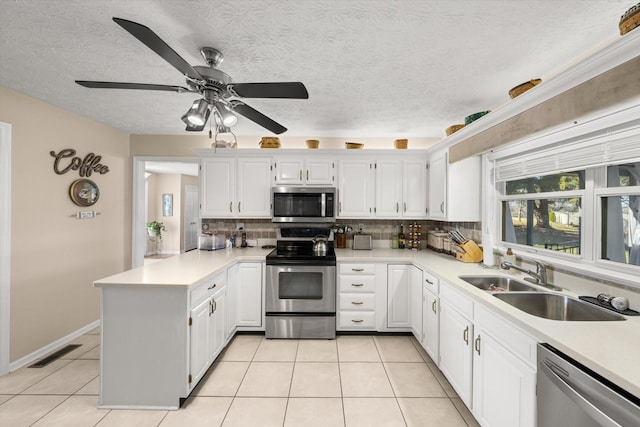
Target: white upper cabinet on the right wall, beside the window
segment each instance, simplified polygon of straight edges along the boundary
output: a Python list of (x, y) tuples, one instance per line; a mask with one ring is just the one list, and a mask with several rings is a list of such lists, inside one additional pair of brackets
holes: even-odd
[(480, 158), (448, 163), (447, 149), (429, 155), (429, 219), (480, 221)]

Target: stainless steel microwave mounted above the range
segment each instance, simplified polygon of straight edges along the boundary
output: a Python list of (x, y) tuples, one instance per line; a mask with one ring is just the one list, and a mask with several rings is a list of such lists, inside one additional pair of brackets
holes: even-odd
[(272, 187), (272, 222), (335, 222), (333, 187)]

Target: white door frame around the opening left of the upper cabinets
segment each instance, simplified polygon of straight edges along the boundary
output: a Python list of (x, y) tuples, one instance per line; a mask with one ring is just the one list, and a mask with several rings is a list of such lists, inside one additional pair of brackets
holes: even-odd
[(131, 268), (144, 265), (147, 250), (145, 229), (145, 162), (199, 163), (198, 157), (133, 156), (133, 195), (131, 200)]

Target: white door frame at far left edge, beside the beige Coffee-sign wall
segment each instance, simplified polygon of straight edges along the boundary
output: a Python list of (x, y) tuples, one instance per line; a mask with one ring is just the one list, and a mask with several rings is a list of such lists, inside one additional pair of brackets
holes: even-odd
[(11, 323), (11, 125), (0, 122), (0, 375), (9, 372)]

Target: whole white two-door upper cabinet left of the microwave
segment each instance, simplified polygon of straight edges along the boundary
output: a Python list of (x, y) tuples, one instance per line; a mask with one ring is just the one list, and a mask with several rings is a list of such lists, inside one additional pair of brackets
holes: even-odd
[(271, 216), (271, 159), (201, 159), (200, 216), (267, 218)]

